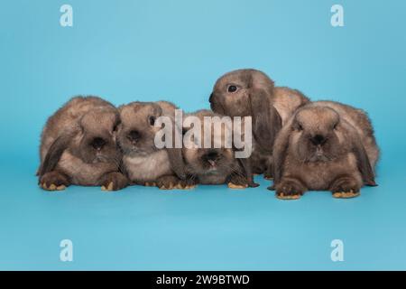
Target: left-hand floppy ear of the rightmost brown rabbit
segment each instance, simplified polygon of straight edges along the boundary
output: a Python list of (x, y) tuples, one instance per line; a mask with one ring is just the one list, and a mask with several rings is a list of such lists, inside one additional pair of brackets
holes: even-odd
[(273, 144), (272, 153), (272, 171), (273, 171), (273, 186), (281, 182), (283, 173), (283, 163), (285, 163), (286, 154), (289, 148), (289, 139), (292, 131), (293, 119), (291, 119), (278, 134)]

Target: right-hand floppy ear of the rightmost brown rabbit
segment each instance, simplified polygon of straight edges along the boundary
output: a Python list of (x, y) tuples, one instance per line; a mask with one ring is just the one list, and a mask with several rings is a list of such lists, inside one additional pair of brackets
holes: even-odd
[(364, 184), (373, 187), (377, 186), (374, 170), (369, 161), (368, 154), (366, 154), (364, 145), (361, 143), (358, 135), (356, 135), (353, 140), (353, 153), (355, 154), (358, 170), (361, 172)]

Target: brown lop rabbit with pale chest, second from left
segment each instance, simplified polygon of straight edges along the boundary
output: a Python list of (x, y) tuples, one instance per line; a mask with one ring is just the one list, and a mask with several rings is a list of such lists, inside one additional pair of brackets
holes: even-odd
[[(131, 182), (161, 189), (188, 189), (181, 148), (158, 148), (155, 126), (158, 117), (170, 117), (173, 128), (175, 107), (167, 101), (132, 102), (119, 107), (121, 124), (117, 141), (123, 152), (124, 170)], [(181, 132), (180, 132), (181, 134)]]

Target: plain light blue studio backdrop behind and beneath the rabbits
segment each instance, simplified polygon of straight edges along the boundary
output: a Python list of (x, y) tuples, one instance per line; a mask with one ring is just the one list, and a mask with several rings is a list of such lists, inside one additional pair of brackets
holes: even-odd
[[(60, 5), (73, 27), (60, 26)], [(345, 8), (342, 28), (330, 7)], [(406, 269), (406, 3), (395, 0), (2, 1), (0, 269)], [(313, 99), (366, 109), (377, 188), (277, 200), (261, 187), (116, 193), (37, 187), (47, 117), (69, 97), (208, 107), (215, 80), (256, 68)], [(60, 262), (60, 240), (74, 261)], [(344, 241), (344, 262), (330, 259)]]

